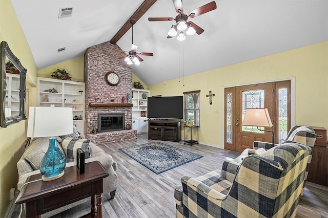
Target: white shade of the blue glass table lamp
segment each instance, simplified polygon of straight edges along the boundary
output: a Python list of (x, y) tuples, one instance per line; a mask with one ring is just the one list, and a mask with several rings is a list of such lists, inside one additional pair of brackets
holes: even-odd
[(30, 107), (27, 137), (62, 136), (73, 133), (71, 107)]

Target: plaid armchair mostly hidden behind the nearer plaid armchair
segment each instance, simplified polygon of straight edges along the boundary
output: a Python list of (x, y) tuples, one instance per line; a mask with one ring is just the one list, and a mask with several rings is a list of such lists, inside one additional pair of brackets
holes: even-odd
[[(308, 161), (308, 166), (306, 166), (306, 172), (305, 172), (305, 181), (306, 178), (308, 178), (308, 173), (309, 173), (309, 169), (310, 169), (310, 163), (312, 160), (312, 154), (313, 154), (313, 149), (314, 149), (314, 143), (316, 141), (317, 135), (314, 131), (313, 128), (311, 128), (310, 126), (293, 126), (291, 128), (291, 130), (289, 131), (286, 140), (284, 140), (281, 144), (284, 144), (286, 142), (298, 142), (304, 145), (308, 145), (312, 148), (311, 150), (311, 155), (309, 157), (309, 161)], [(260, 141), (254, 141), (253, 142), (253, 146), (254, 149), (258, 149), (258, 148), (264, 148), (265, 150), (272, 148), (272, 143), (268, 143), (268, 142), (260, 142)], [(277, 146), (277, 144), (275, 144), (274, 146)], [(304, 192), (304, 188), (305, 188), (305, 181), (303, 184), (303, 190), (301, 195), (303, 195)]]

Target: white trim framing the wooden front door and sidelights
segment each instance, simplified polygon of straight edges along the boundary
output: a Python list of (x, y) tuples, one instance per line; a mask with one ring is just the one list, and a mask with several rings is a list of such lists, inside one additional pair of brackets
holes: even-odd
[[(223, 103), (222, 103), (222, 111), (224, 112), (224, 99), (226, 96), (224, 96), (224, 89), (226, 88), (232, 88), (232, 87), (238, 87), (238, 86), (243, 86), (243, 85), (254, 85), (254, 84), (261, 84), (261, 83), (268, 83), (268, 82), (280, 82), (280, 81), (285, 81), (285, 80), (291, 80), (291, 126), (295, 125), (295, 77), (288, 77), (288, 78), (282, 78), (282, 79), (276, 79), (276, 80), (265, 80), (265, 81), (258, 81), (258, 82), (251, 82), (251, 83), (244, 83), (244, 84), (239, 84), (239, 85), (229, 85), (229, 86), (223, 86)], [(224, 113), (223, 113), (223, 120), (225, 119)], [(223, 122), (223, 137), (222, 137), (222, 144), (223, 144), (223, 149), (224, 149), (224, 122)]]

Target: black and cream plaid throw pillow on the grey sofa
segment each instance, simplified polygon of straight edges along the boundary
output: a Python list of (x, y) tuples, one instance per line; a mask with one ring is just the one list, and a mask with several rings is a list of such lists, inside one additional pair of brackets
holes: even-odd
[(61, 141), (61, 147), (64, 150), (68, 163), (76, 161), (77, 148), (82, 148), (84, 150), (86, 159), (92, 157), (90, 140), (87, 139), (75, 139), (71, 137), (63, 138)]

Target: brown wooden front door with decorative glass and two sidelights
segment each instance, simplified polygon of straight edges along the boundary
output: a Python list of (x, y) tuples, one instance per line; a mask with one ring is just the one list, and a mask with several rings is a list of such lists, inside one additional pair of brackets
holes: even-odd
[(224, 148), (242, 152), (253, 148), (254, 141), (272, 142), (272, 133), (263, 127), (242, 126), (247, 108), (268, 108), (276, 133), (276, 143), (285, 138), (290, 129), (290, 80), (236, 86), (224, 90)]

